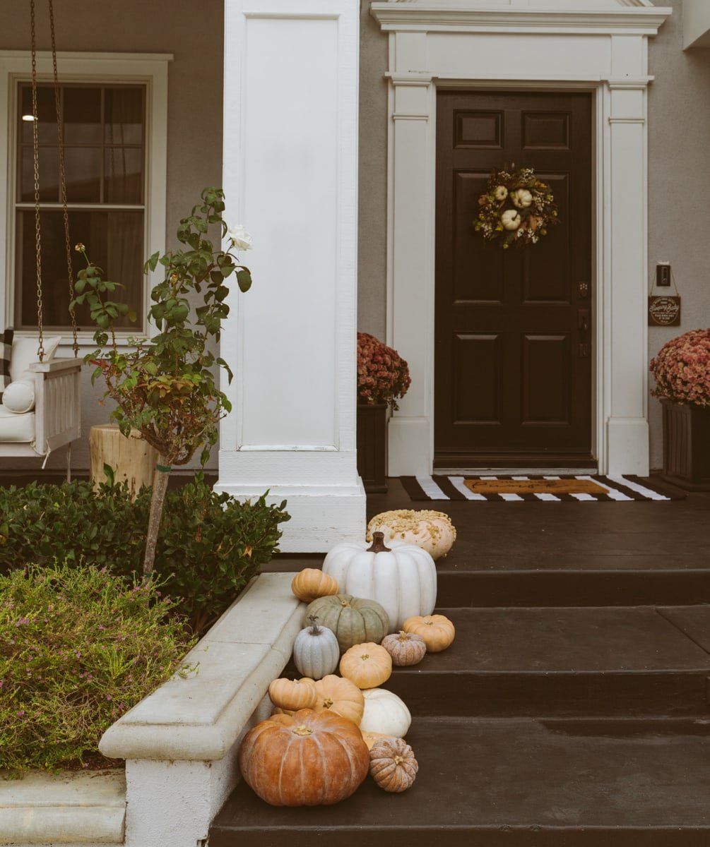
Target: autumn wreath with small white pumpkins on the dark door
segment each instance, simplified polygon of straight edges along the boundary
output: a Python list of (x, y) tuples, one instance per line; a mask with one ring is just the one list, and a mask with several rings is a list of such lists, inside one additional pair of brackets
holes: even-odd
[(516, 170), (513, 165), (493, 171), (478, 202), (474, 229), (503, 249), (537, 244), (548, 227), (557, 224), (550, 186), (538, 180), (532, 168)]

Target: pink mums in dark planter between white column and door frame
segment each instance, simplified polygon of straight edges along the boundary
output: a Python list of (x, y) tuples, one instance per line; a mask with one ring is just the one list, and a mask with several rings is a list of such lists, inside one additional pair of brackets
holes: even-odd
[(386, 491), (388, 408), (411, 385), (408, 364), (374, 335), (358, 332), (358, 473), (366, 491)]

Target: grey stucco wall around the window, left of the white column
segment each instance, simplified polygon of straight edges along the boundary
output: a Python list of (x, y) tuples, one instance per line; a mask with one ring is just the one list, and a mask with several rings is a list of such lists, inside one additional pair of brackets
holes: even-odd
[[(173, 0), (121, 0), (120, 3), (54, 3), (58, 51), (173, 53), (169, 64), (167, 246), (175, 247), (175, 230), (190, 213), (206, 185), (222, 179), (222, 42), (223, 0), (191, 3)], [(197, 11), (196, 11), (197, 9)], [(47, 6), (36, 4), (37, 48), (51, 46)], [(0, 49), (30, 49), (30, 4), (0, 0)], [(61, 66), (59, 67), (61, 75)], [(64, 354), (65, 355), (65, 354)], [(108, 407), (99, 405), (103, 391), (92, 389), (92, 368), (84, 368), (82, 439), (73, 447), (75, 469), (89, 466), (87, 434), (105, 423)], [(39, 468), (41, 460), (8, 462), (3, 468)], [(217, 466), (217, 451), (210, 468)], [(64, 449), (50, 457), (48, 468), (64, 468)]]

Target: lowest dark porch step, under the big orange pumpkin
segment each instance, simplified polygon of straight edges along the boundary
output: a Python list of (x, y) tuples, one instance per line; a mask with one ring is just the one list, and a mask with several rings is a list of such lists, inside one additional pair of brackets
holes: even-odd
[(367, 778), (333, 806), (275, 808), (240, 783), (209, 847), (707, 847), (710, 722), (416, 717), (413, 787)]

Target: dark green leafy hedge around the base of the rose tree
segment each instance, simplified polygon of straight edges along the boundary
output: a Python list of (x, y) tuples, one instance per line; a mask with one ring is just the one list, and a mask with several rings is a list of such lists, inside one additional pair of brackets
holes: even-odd
[[(32, 483), (0, 489), (0, 573), (30, 562), (86, 561), (112, 573), (142, 573), (150, 490), (131, 502), (125, 485)], [(278, 550), (286, 501), (240, 502), (195, 482), (169, 491), (155, 573), (196, 632), (225, 611)]]

